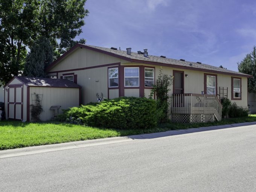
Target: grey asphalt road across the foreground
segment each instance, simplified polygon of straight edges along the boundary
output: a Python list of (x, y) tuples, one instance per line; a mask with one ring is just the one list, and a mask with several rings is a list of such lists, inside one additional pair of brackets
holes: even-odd
[(0, 191), (256, 191), (256, 126), (3, 158)]

